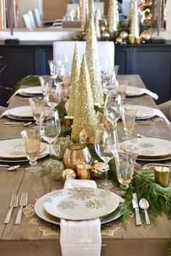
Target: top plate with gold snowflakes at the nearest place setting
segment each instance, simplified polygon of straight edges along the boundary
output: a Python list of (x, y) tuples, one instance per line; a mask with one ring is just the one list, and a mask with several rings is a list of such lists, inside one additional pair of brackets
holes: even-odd
[(49, 214), (66, 220), (90, 220), (117, 209), (116, 194), (103, 189), (86, 187), (59, 189), (44, 201)]

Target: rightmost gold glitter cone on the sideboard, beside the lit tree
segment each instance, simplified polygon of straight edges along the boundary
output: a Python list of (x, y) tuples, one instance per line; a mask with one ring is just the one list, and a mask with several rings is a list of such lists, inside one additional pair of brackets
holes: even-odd
[(135, 38), (139, 38), (140, 28), (139, 28), (138, 7), (137, 7), (136, 0), (133, 3), (133, 14), (130, 19), (130, 34), (135, 36)]

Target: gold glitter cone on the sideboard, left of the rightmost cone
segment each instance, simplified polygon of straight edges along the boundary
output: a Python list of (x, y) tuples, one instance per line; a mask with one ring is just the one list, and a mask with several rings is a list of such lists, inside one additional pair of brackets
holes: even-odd
[(109, 33), (111, 35), (117, 31), (117, 27), (119, 24), (119, 12), (118, 12), (118, 4), (117, 0), (109, 0), (109, 9), (108, 9), (108, 25), (109, 25)]

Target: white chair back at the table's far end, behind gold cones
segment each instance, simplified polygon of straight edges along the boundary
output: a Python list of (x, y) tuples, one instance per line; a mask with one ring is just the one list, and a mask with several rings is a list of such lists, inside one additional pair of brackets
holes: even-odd
[[(86, 51), (86, 41), (77, 41), (80, 58)], [(101, 70), (106, 70), (107, 62), (114, 67), (114, 43), (112, 41), (98, 41), (99, 62)], [(53, 43), (53, 58), (57, 61), (59, 54), (67, 54), (69, 59), (68, 70), (71, 70), (75, 41), (56, 41)]]

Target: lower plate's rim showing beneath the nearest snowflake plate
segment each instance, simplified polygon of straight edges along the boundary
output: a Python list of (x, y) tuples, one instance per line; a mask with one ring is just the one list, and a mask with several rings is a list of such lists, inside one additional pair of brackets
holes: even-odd
[[(38, 217), (40, 217), (41, 219), (46, 220), (50, 223), (60, 225), (60, 219), (57, 217), (54, 217), (53, 215), (50, 215), (48, 212), (46, 212), (46, 210), (44, 209), (44, 205), (43, 205), (45, 199), (47, 197), (51, 196), (51, 194), (54, 194), (54, 192), (56, 192), (56, 191), (45, 194), (45, 195), (43, 195), (43, 197), (40, 197), (36, 201), (35, 212), (38, 215)], [(124, 202), (122, 197), (117, 195), (117, 198), (118, 198), (119, 202)], [(114, 210), (114, 212), (111, 212), (109, 215), (102, 217), (101, 224), (108, 223), (112, 220), (116, 220), (117, 218), (120, 218), (120, 216), (121, 216), (120, 210), (117, 208), (116, 210)]]

